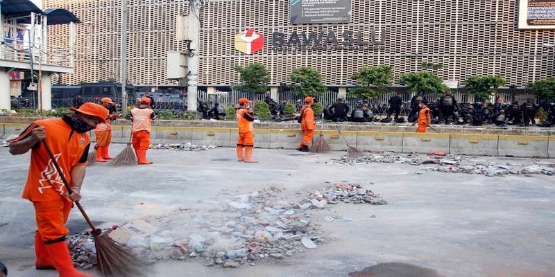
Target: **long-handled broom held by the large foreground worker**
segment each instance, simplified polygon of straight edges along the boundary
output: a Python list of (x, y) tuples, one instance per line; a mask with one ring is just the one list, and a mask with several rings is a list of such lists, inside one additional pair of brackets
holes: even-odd
[[(65, 188), (67, 188), (67, 193), (71, 195), (71, 188), (69, 187), (60, 166), (58, 166), (58, 161), (56, 161), (52, 150), (46, 141), (42, 141), (42, 143), (44, 144), (44, 148), (46, 148), (46, 152), (48, 152), (50, 156), (50, 160), (58, 171), (58, 175), (60, 175), (60, 178), (64, 182)], [(83, 217), (85, 217), (85, 220), (92, 229), (91, 233), (94, 237), (94, 247), (96, 247), (96, 263), (99, 266), (99, 271), (102, 276), (145, 276), (146, 270), (144, 270), (144, 264), (128, 249), (122, 247), (120, 244), (117, 244), (117, 242), (108, 237), (108, 235), (103, 235), (101, 229), (96, 229), (92, 220), (89, 218), (87, 213), (85, 213), (83, 206), (81, 206), (79, 202), (74, 203), (77, 208), (79, 208), (79, 211), (83, 214)]]

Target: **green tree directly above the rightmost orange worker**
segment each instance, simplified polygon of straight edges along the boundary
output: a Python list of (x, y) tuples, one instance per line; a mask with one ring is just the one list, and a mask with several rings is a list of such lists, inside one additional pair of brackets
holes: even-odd
[(447, 89), (447, 86), (438, 75), (427, 71), (401, 74), (399, 80), (409, 87), (411, 91), (422, 91), (423, 93), (441, 95), (443, 91)]

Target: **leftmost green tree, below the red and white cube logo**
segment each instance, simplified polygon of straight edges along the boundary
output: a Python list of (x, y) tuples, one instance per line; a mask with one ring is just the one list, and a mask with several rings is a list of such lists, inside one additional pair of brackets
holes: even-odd
[(237, 90), (255, 94), (264, 94), (268, 91), (268, 82), (271, 78), (264, 64), (255, 62), (248, 66), (235, 66), (234, 70), (239, 73), (239, 80), (241, 80)]

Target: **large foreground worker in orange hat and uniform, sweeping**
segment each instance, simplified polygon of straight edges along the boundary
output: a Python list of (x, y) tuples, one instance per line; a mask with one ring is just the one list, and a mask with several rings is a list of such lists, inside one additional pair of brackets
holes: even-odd
[[(76, 114), (36, 120), (11, 141), (10, 153), (19, 155), (31, 150), (31, 165), (22, 197), (35, 207), (35, 268), (56, 269), (61, 277), (87, 277), (91, 275), (80, 273), (74, 267), (65, 242), (69, 231), (64, 225), (73, 202), (81, 199), (90, 146), (87, 132), (106, 122), (108, 109), (87, 102), (71, 111)], [(48, 143), (62, 172), (53, 166), (42, 141)], [(71, 195), (60, 174), (67, 179)]]

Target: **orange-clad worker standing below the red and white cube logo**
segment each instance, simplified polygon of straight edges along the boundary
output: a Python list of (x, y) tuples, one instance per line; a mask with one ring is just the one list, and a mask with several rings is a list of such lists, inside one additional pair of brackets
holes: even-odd
[(235, 113), (237, 125), (239, 125), (239, 139), (237, 140), (236, 148), (237, 161), (244, 161), (245, 163), (258, 162), (253, 159), (253, 148), (255, 148), (253, 121), (255, 120), (255, 115), (250, 109), (250, 103), (252, 102), (247, 98), (239, 99), (239, 109)]

